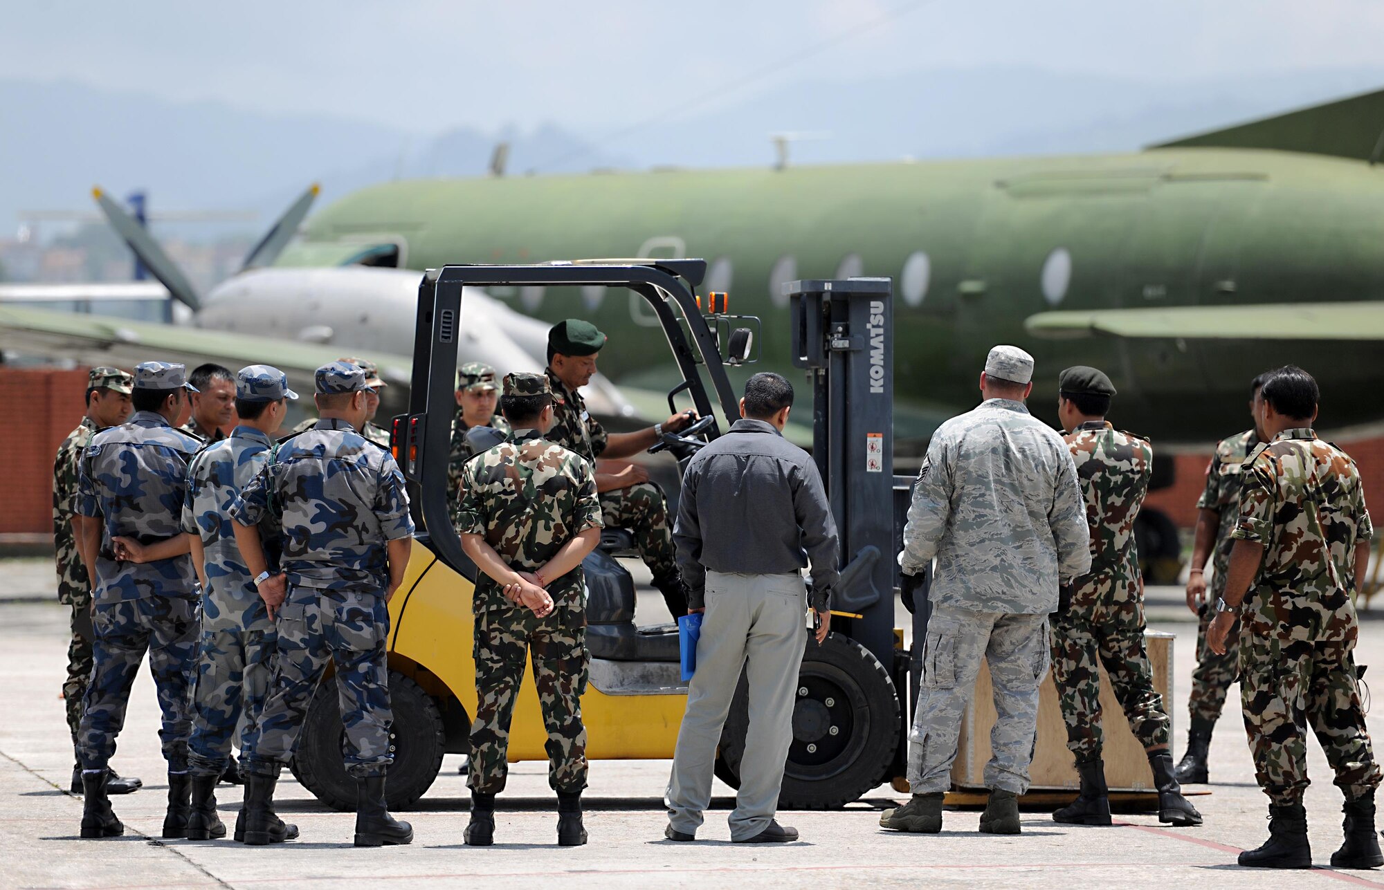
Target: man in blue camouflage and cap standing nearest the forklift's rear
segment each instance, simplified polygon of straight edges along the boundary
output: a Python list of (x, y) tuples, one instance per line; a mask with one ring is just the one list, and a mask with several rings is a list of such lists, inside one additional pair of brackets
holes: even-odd
[[(399, 464), (357, 433), (370, 410), (365, 372), (332, 362), (317, 369), (314, 383), (321, 419), (281, 442), (231, 504), (241, 556), (278, 630), (268, 698), (242, 750), (245, 843), (281, 839), (274, 785), (331, 661), (346, 773), (356, 779), (356, 846), (406, 844), (412, 826), (385, 803), (385, 773), (394, 761), (385, 640), (414, 522)], [(271, 514), (282, 529), (278, 575), (257, 528)]]

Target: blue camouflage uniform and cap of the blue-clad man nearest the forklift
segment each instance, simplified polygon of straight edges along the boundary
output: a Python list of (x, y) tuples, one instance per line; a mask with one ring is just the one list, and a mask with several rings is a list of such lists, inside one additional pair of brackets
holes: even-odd
[[(364, 388), (364, 372), (332, 362), (318, 392)], [(307, 705), (331, 659), (346, 730), (346, 770), (379, 775), (393, 763), (385, 638), (385, 543), (414, 533), (404, 477), (393, 456), (349, 423), (322, 419), (284, 441), (235, 499), (244, 525), (278, 515), (288, 598), (278, 609), (278, 655), (268, 699), (244, 752), (246, 771), (277, 775), (293, 753)]]

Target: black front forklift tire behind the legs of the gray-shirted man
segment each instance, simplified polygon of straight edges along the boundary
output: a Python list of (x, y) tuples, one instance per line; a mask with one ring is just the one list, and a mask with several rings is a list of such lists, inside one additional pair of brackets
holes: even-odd
[[(869, 650), (839, 633), (821, 645), (808, 640), (779, 807), (835, 810), (877, 788), (894, 761), (901, 714), (894, 681)], [(716, 759), (717, 778), (732, 788), (740, 785), (749, 723), (742, 673)]]

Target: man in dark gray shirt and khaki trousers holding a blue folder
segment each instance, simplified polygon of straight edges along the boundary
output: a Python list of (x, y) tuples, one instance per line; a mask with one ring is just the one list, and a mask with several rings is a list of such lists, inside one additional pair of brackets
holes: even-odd
[(774, 813), (793, 742), (807, 636), (801, 572), (811, 560), (821, 643), (830, 625), (840, 545), (817, 464), (783, 438), (792, 406), (787, 380), (775, 373), (750, 377), (742, 419), (698, 452), (682, 480), (673, 543), (689, 611), (704, 612), (704, 619), (664, 800), (670, 840), (696, 839), (711, 802), (716, 746), (746, 662), (750, 726), (731, 840), (797, 840), (797, 831), (779, 825)]

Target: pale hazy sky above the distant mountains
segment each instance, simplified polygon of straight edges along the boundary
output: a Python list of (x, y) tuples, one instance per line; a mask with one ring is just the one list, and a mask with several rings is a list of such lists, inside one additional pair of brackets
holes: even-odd
[(925, 68), (1384, 70), (1378, 0), (10, 0), (0, 22), (0, 77), (418, 131), (619, 126), (790, 80)]

